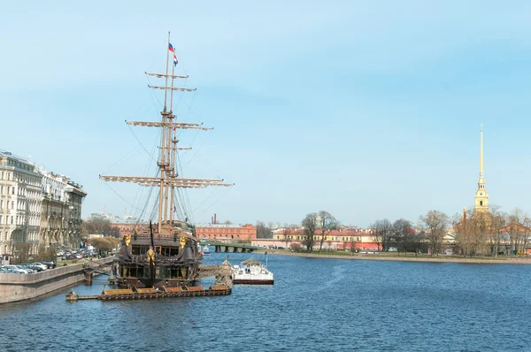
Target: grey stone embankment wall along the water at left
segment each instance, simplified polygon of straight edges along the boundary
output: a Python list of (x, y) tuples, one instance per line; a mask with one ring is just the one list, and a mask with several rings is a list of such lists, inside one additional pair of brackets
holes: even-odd
[[(94, 262), (111, 263), (112, 257)], [(28, 300), (80, 282), (84, 279), (83, 263), (84, 261), (33, 274), (0, 273), (0, 304)]]

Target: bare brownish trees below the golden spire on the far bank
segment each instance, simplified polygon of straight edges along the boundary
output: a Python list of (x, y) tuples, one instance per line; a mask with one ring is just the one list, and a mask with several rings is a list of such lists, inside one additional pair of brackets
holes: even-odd
[(443, 249), (444, 237), (453, 229), (455, 241), (452, 252), (462, 256), (498, 256), (526, 253), (531, 235), (531, 218), (520, 209), (505, 213), (498, 206), (485, 211), (457, 213), (449, 217), (439, 210), (429, 210), (421, 215), (417, 230), (412, 222), (399, 219), (377, 220), (371, 225), (375, 241), (382, 250), (395, 247), (399, 252), (427, 247), (431, 255), (438, 256)]

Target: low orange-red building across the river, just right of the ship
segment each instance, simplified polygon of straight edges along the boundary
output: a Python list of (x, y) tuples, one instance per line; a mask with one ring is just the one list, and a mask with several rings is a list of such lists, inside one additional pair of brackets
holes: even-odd
[(207, 224), (196, 226), (196, 236), (199, 239), (211, 241), (252, 241), (257, 238), (257, 226), (245, 224)]

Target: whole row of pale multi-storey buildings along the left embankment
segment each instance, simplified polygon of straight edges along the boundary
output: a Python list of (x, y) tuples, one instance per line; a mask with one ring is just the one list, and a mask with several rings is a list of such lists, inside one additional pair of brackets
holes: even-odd
[(81, 238), (81, 185), (0, 150), (0, 255), (40, 245), (75, 246)]

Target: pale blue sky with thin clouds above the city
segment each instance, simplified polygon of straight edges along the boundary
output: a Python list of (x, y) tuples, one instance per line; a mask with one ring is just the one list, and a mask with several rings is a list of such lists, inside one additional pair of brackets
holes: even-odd
[[(484, 126), (489, 203), (531, 211), (531, 3), (512, 1), (4, 2), (0, 149), (83, 185), (82, 215), (149, 218), (167, 33), (182, 176), (195, 223), (416, 222), (473, 208)], [(149, 207), (145, 207), (148, 209)], [(143, 211), (142, 211), (143, 210)]]

